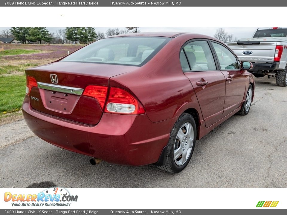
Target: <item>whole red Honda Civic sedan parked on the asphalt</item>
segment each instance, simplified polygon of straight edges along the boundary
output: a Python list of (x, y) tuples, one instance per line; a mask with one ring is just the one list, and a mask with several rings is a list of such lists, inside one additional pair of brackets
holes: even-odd
[(29, 128), (53, 145), (177, 173), (196, 139), (249, 112), (251, 67), (209, 36), (117, 35), (27, 69), (22, 110)]

